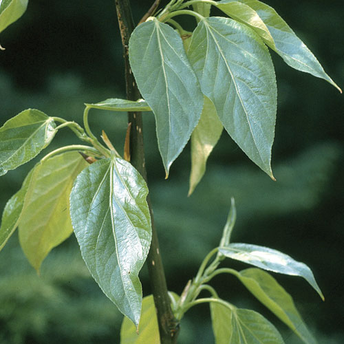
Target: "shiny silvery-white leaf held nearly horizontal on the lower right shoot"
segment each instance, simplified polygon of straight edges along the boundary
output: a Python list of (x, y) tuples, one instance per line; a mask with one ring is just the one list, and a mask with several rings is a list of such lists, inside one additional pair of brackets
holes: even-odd
[(314, 279), (312, 270), (305, 264), (295, 261), (292, 257), (282, 252), (264, 246), (238, 243), (219, 248), (219, 252), (228, 258), (244, 261), (244, 263), (264, 270), (303, 277), (318, 292), (321, 299), (324, 299), (323, 293)]

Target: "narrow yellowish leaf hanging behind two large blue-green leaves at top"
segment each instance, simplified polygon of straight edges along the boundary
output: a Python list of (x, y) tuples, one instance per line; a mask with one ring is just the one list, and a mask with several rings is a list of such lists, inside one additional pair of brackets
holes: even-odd
[(222, 129), (213, 102), (204, 96), (200, 122), (191, 135), (191, 174), (189, 195), (202, 179), (206, 171), (206, 160), (219, 140)]

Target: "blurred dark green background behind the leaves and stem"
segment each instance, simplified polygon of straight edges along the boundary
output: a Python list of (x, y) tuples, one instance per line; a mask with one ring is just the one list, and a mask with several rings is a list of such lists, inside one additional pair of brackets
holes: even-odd
[[(152, 2), (131, 1), (136, 21)], [(268, 4), (343, 88), (343, 0)], [(182, 21), (192, 28), (186, 18)], [(6, 47), (0, 52), (1, 125), (30, 107), (80, 122), (83, 103), (124, 96), (114, 1), (32, 0), (24, 16), (0, 35), (0, 43)], [(217, 245), (233, 195), (238, 216), (233, 240), (276, 248), (308, 264), (325, 302), (305, 281), (275, 277), (292, 294), (319, 343), (344, 343), (343, 96), (324, 80), (291, 69), (274, 52), (272, 58), (279, 89), (272, 158), (277, 182), (224, 133), (204, 180), (187, 198), (189, 145), (165, 181), (153, 114), (144, 114), (149, 186), (169, 289), (180, 293)], [(97, 135), (105, 129), (122, 151), (125, 114), (92, 110), (90, 122)], [(76, 142), (67, 130), (58, 133), (48, 150)], [(1, 209), (34, 162), (1, 177)], [(246, 268), (233, 261), (226, 264)], [(149, 294), (146, 268), (142, 284), (144, 295)], [(235, 305), (262, 312), (279, 327), (286, 343), (301, 343), (235, 277), (217, 277), (213, 286)], [(25, 261), (17, 235), (0, 252), (1, 344), (119, 343), (121, 318), (89, 277), (74, 236), (52, 251), (41, 277)], [(180, 343), (213, 343), (206, 306), (186, 314), (181, 327)]]

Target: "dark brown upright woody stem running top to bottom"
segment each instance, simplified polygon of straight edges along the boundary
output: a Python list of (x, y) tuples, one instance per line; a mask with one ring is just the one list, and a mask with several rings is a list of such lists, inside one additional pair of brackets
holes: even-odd
[[(155, 1), (156, 3), (157, 1)], [(123, 54), (125, 58), (125, 83), (127, 88), (127, 99), (137, 100), (140, 93), (129, 65), (129, 38), (134, 29), (133, 17), (129, 0), (115, 0), (120, 35), (122, 37)], [(153, 6), (152, 6), (153, 7)], [(130, 155), (131, 164), (141, 173), (147, 182), (147, 171), (144, 163), (142, 116), (140, 112), (129, 112), (128, 121), (131, 123), (130, 133)], [(161, 344), (174, 344), (178, 336), (178, 323), (171, 310), (171, 301), (167, 293), (164, 267), (160, 256), (158, 235), (154, 226), (153, 213), (151, 211), (151, 200), (147, 197), (152, 223), (152, 241), (147, 265), (149, 278), (155, 303), (155, 310), (158, 315), (158, 324)]]

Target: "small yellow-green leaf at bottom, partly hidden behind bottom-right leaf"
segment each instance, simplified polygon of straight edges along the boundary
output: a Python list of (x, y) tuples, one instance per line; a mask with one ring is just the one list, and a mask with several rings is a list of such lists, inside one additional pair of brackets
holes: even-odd
[(233, 312), (230, 308), (211, 302), (211, 325), (215, 337), (215, 344), (230, 343), (230, 336), (233, 333), (232, 316)]

